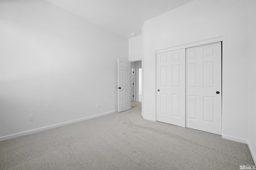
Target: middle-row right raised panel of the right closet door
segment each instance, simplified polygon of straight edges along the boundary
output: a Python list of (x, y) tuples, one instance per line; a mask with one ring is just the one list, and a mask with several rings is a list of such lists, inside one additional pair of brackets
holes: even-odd
[(204, 62), (204, 88), (214, 87), (214, 61)]

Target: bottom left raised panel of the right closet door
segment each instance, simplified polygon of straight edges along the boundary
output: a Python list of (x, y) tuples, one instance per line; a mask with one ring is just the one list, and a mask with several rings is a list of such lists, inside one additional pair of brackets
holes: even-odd
[(197, 96), (187, 96), (187, 113), (188, 119), (197, 120)]

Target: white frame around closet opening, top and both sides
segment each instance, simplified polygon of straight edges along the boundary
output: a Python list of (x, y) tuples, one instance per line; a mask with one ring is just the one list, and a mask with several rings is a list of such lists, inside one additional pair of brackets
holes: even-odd
[[(222, 77), (223, 40), (224, 40), (224, 37), (221, 36), (221, 37), (215, 37), (215, 38), (212, 38), (212, 39), (197, 41), (197, 42), (194, 42), (194, 43), (188, 43), (188, 44), (174, 46), (174, 47), (170, 47), (170, 48), (166, 48), (166, 49), (156, 50), (155, 61), (157, 60), (157, 54), (159, 54), (159, 53), (165, 53), (165, 52), (168, 52), (168, 51), (175, 51), (175, 50), (179, 50), (179, 49), (187, 49), (187, 48), (190, 48), (190, 47), (196, 47), (196, 46), (200, 46), (200, 45), (206, 45), (206, 44), (210, 44), (210, 43), (221, 42), (221, 77)], [(155, 70), (155, 72), (156, 72), (156, 70)], [(157, 74), (156, 74), (156, 76), (157, 76)], [(156, 77), (155, 80), (157, 80), (157, 77)], [(155, 87), (157, 87), (157, 82), (155, 84)], [(221, 88), (222, 88), (222, 78), (221, 78)], [(157, 90), (155, 90), (155, 92), (156, 92), (156, 95), (157, 95)], [(222, 94), (223, 94), (223, 91), (222, 91)], [(223, 107), (222, 107), (223, 106), (223, 100), (222, 100), (222, 98), (223, 98), (223, 95), (221, 96), (221, 114), (222, 114), (222, 124), (221, 124), (222, 130), (221, 131), (222, 131), (222, 134), (223, 134), (223, 127), (224, 127), (223, 124), (224, 123), (223, 123)], [(157, 100), (156, 100), (155, 106), (157, 106)], [(186, 111), (185, 111), (185, 114), (186, 114)], [(157, 109), (156, 109), (156, 121), (157, 121)], [(185, 119), (185, 125), (186, 125), (186, 119)]]

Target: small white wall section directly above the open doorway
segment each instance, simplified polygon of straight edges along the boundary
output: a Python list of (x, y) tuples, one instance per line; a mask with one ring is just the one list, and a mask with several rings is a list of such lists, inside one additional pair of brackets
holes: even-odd
[(142, 35), (129, 39), (129, 61), (139, 61), (143, 56)]

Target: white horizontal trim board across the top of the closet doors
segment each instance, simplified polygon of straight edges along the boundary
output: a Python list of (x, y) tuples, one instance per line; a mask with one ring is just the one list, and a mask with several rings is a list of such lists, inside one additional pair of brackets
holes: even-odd
[(156, 50), (156, 54), (164, 53), (164, 52), (168, 52), (168, 51), (179, 50), (179, 49), (187, 49), (187, 48), (190, 48), (190, 47), (196, 47), (196, 46), (206, 45), (206, 44), (210, 44), (210, 43), (216, 43), (216, 42), (223, 41), (223, 38), (224, 37), (221, 36), (221, 37), (216, 37), (216, 38), (212, 38), (212, 39), (197, 41), (197, 42), (194, 42), (194, 43), (188, 43), (188, 44), (184, 44), (184, 45), (174, 46), (174, 47), (170, 47), (170, 48), (167, 48), (167, 49), (160, 49), (160, 50)]

